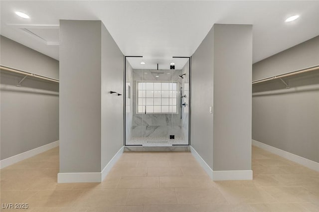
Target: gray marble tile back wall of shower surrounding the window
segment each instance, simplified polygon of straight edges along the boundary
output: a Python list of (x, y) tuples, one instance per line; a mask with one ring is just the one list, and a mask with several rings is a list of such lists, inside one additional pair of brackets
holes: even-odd
[[(164, 70), (162, 74), (152, 74), (155, 70), (133, 70), (133, 121), (131, 129), (131, 138), (146, 137), (150, 140), (169, 139), (169, 135), (175, 135), (175, 139), (184, 140), (183, 123), (180, 119), (180, 94), (179, 88), (182, 80), (178, 77), (181, 70)], [(145, 74), (147, 73), (147, 74)], [(169, 73), (169, 74), (167, 74)], [(136, 113), (136, 95), (137, 81), (173, 81), (178, 82), (178, 114), (137, 114)], [(188, 135), (187, 135), (188, 139)]]

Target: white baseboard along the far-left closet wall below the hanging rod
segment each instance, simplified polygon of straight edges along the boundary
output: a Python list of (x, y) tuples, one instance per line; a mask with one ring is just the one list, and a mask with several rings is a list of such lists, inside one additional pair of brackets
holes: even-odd
[(52, 149), (54, 147), (57, 147), (57, 146), (59, 146), (59, 141), (54, 141), (52, 143), (45, 144), (45, 145), (37, 147), (35, 149), (31, 149), (29, 151), (22, 152), (20, 154), (11, 156), (9, 158), (5, 158), (5, 159), (0, 161), (0, 169), (3, 169), (4, 167), (10, 166), (14, 163), (21, 161), (21, 160), (25, 160), (29, 157), (40, 154), (42, 152), (45, 152), (45, 151)]

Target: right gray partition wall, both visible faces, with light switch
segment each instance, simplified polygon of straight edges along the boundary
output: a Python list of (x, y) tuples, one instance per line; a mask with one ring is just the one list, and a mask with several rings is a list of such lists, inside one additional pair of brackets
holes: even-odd
[(251, 170), (251, 72), (252, 25), (215, 24), (192, 55), (191, 145), (214, 171)]

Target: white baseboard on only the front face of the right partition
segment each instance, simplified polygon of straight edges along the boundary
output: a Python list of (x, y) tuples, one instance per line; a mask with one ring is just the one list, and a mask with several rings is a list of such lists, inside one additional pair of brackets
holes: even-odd
[(253, 170), (213, 171), (213, 181), (252, 180)]

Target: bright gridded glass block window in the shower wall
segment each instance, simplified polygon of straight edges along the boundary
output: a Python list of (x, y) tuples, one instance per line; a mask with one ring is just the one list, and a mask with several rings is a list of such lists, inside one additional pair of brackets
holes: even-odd
[(177, 82), (137, 82), (137, 113), (178, 113)]

